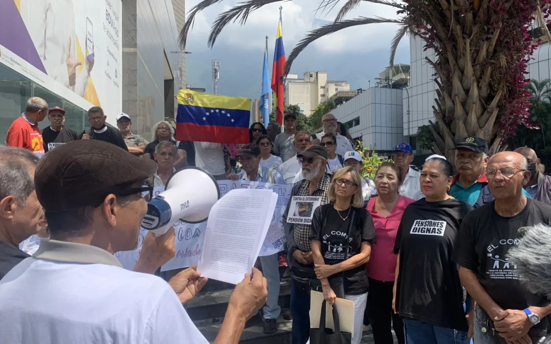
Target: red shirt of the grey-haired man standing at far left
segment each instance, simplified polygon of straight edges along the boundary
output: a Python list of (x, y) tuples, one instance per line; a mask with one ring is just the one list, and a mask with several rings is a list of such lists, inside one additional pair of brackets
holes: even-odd
[(34, 153), (44, 153), (42, 132), (38, 125), (29, 123), (23, 116), (15, 119), (12, 125), (9, 126), (6, 144), (30, 150)]

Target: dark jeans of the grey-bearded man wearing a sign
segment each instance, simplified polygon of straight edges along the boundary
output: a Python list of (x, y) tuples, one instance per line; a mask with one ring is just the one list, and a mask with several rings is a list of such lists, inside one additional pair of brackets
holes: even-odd
[(293, 344), (306, 344), (310, 337), (310, 288), (301, 288), (291, 280)]

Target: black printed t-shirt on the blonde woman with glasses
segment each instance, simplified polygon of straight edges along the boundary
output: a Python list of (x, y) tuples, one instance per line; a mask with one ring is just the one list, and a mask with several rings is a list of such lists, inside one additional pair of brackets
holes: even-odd
[[(350, 228), (350, 239), (347, 240), (353, 211), (356, 215), (354, 224)], [(348, 210), (341, 211), (340, 214), (342, 217), (346, 217)], [(345, 221), (341, 216), (333, 208), (333, 204), (329, 203), (318, 206), (314, 211), (314, 217), (312, 217), (310, 239), (321, 241), (321, 254), (327, 265), (341, 263), (360, 253), (362, 242), (376, 242), (375, 225), (369, 211), (364, 208), (351, 208)], [(345, 294), (359, 295), (368, 292), (369, 282), (365, 265), (344, 271), (343, 277)]]

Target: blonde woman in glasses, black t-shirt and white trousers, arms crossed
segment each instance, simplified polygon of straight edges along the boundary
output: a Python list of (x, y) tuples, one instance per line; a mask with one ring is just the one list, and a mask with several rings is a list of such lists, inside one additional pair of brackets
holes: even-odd
[(365, 264), (375, 227), (364, 209), (360, 175), (352, 167), (335, 173), (327, 197), (331, 202), (318, 206), (312, 218), (314, 271), (327, 302), (334, 304), (337, 297), (354, 302), (352, 344), (358, 344), (369, 288)]

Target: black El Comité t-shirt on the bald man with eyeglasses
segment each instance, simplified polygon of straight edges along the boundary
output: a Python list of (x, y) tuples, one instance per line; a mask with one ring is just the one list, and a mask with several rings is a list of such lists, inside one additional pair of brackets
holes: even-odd
[(495, 201), (477, 208), (463, 221), (453, 260), (472, 270), (489, 296), (503, 309), (544, 307), (547, 299), (534, 295), (520, 283), (507, 252), (517, 242), (518, 228), (538, 223), (551, 225), (551, 206), (528, 199), (512, 217), (500, 216)]

